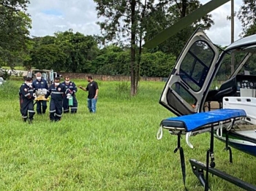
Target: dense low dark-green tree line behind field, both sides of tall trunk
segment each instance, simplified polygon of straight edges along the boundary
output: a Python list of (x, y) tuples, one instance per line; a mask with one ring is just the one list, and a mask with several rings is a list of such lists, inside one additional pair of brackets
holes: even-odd
[[(97, 36), (79, 32), (58, 32), (54, 36), (31, 38), (33, 48), (27, 69), (53, 69), (64, 72), (83, 72), (105, 75), (129, 75), (129, 48), (110, 44), (99, 49)], [(141, 76), (167, 77), (175, 56), (164, 52), (143, 52)]]

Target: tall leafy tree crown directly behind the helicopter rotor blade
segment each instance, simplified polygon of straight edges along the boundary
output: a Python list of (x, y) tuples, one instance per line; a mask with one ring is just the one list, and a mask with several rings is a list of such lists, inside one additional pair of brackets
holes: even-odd
[[(200, 4), (198, 0), (159, 0), (157, 4), (151, 7), (152, 11), (146, 16), (145, 41), (153, 38), (160, 31), (172, 26), (178, 20), (189, 15), (189, 13), (201, 6), (202, 4)], [(189, 36), (192, 35), (192, 32), (195, 31), (196, 28), (201, 27), (208, 29), (213, 24), (214, 21), (211, 20), (211, 15), (208, 14), (200, 20), (197, 20), (191, 26), (187, 26), (187, 28), (178, 32), (178, 34), (172, 38), (167, 39), (166, 42), (159, 44), (159, 46), (149, 51), (156, 52), (160, 50), (165, 53), (172, 53), (178, 58)]]

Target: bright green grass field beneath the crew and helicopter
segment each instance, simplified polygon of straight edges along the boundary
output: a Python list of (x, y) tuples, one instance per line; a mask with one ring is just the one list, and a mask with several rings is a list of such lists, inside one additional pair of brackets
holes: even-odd
[[(85, 80), (75, 81), (85, 86)], [(127, 82), (98, 82), (97, 114), (86, 108), (87, 93), (78, 90), (78, 114), (64, 114), (50, 122), (48, 112), (23, 123), (18, 88), (10, 81), (0, 87), (0, 190), (184, 190), (176, 136), (164, 131), (156, 139), (159, 122), (172, 116), (158, 104), (164, 82), (140, 82), (129, 98)], [(187, 188), (203, 190), (189, 158), (206, 161), (208, 133), (192, 137), (195, 149), (184, 147)], [(233, 165), (224, 144), (215, 141), (217, 168), (256, 184), (255, 157), (233, 149)], [(212, 190), (239, 190), (210, 176)]]

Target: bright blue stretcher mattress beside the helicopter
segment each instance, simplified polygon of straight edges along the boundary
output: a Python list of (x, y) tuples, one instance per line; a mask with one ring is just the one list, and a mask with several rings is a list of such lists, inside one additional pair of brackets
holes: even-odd
[(230, 120), (236, 117), (246, 117), (246, 112), (243, 109), (217, 109), (211, 112), (170, 117), (166, 120), (162, 120), (161, 125), (165, 127), (184, 128), (186, 131), (192, 131), (205, 125)]

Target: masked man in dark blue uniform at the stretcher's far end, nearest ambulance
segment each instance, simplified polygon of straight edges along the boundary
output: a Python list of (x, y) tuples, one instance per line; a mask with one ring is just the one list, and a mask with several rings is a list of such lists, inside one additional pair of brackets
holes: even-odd
[[(42, 79), (42, 74), (37, 72), (36, 74), (37, 79), (34, 80), (32, 83), (32, 87), (34, 90), (37, 91), (39, 89), (46, 89), (48, 90), (48, 84), (45, 79)], [(37, 114), (45, 114), (47, 109), (47, 101), (37, 101)]]

